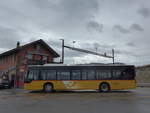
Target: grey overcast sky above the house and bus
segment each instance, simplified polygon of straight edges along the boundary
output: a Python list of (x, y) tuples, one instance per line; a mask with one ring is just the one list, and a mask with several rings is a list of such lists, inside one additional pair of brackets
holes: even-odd
[[(150, 0), (1, 0), (0, 53), (44, 39), (61, 54), (65, 44), (111, 55), (116, 62), (150, 64)], [(112, 59), (65, 50), (65, 63)]]

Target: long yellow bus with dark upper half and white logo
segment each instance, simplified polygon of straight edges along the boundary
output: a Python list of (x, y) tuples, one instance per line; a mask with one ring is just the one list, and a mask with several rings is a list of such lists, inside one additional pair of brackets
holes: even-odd
[(24, 88), (27, 90), (123, 90), (136, 88), (132, 65), (30, 66)]

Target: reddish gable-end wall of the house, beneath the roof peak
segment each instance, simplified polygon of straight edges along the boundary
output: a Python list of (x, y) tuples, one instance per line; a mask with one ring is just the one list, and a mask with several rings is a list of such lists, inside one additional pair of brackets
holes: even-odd
[[(40, 45), (40, 44), (39, 44)], [(43, 61), (43, 56), (46, 55), (47, 62), (53, 62), (53, 55), (47, 48), (40, 45), (41, 50), (37, 50), (36, 45), (31, 45), (24, 48), (17, 54), (17, 75), (16, 75), (16, 86), (23, 87), (24, 76), (27, 72), (30, 61)], [(28, 55), (32, 55), (32, 60), (28, 58)]]

